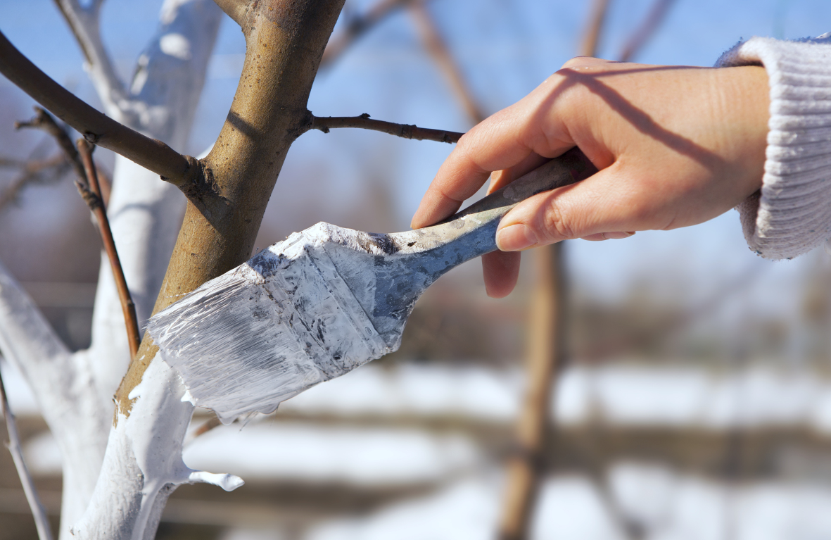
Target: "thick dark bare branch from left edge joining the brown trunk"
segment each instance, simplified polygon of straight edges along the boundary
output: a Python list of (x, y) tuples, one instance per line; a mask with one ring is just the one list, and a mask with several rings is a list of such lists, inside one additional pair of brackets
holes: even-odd
[(122, 126), (75, 97), (42, 72), (0, 32), (0, 73), (86, 138), (184, 188), (199, 178), (193, 157)]

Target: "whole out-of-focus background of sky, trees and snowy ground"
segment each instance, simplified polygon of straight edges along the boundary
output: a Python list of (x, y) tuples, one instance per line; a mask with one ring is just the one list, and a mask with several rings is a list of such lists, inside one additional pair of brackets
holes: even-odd
[[(125, 79), (160, 3), (106, 2), (102, 32)], [(98, 105), (52, 2), (2, 0), (0, 28)], [(466, 131), (579, 53), (711, 66), (742, 38), (829, 30), (826, 0), (347, 0), (309, 108)], [(197, 155), (214, 141), (243, 57), (243, 35), (226, 17), (189, 145), (177, 150)], [(100, 240), (70, 171), (50, 164), (56, 146), (13, 129), (31, 107), (0, 77), (0, 260), (81, 349)], [(283, 166), (258, 248), (319, 220), (406, 230), (451, 149), (371, 131), (308, 132)], [(111, 171), (112, 157), (96, 156)], [(762, 260), (735, 211), (538, 251), (524, 254), (508, 298), (486, 297), (472, 261), (428, 290), (396, 354), (276, 414), (191, 438), (185, 463), (246, 484), (179, 488), (159, 538), (494, 538), (511, 519), (506, 493), (522, 467), (539, 483), (520, 504), (529, 538), (831, 538), (831, 256), (820, 248)], [(541, 325), (540, 310), (562, 324)], [(539, 350), (548, 356), (539, 360)], [(22, 378), (0, 368), (29, 467), (57, 515), (60, 452)], [(528, 399), (549, 379), (550, 395)], [(545, 421), (526, 448), (515, 433), (534, 413)], [(194, 429), (210, 421), (200, 411)], [(5, 452), (0, 538), (35, 538)]]

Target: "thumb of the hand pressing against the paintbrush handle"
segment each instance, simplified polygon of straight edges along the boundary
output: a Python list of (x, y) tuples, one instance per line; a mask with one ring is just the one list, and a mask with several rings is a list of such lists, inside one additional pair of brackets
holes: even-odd
[(529, 197), (499, 223), (499, 250), (519, 251), (560, 240), (614, 231), (665, 228), (671, 209), (662, 207), (652, 182), (627, 181), (620, 162), (584, 181)]

